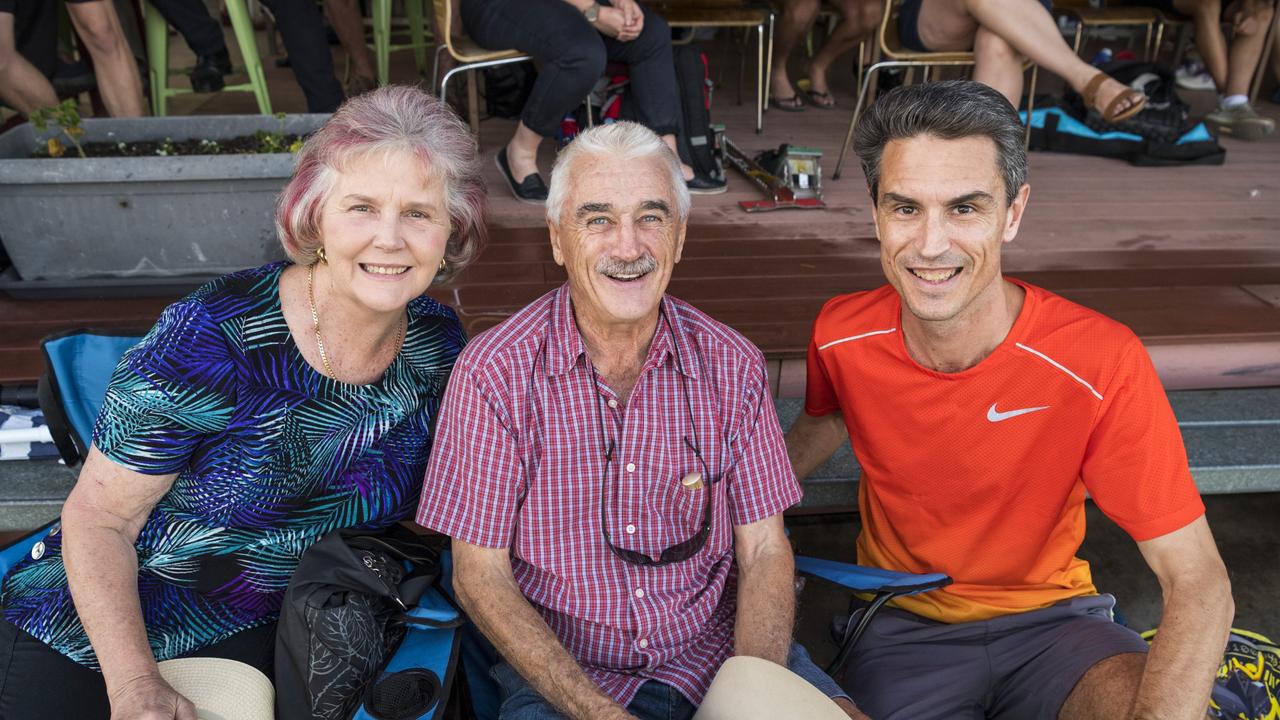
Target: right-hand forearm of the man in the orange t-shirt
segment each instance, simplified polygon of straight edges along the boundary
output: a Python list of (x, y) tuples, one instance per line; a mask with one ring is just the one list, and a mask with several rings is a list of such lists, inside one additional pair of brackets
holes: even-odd
[(1160, 633), (1138, 685), (1133, 717), (1204, 717), (1235, 616), (1231, 582), (1202, 515), (1185, 528), (1138, 543), (1160, 579)]

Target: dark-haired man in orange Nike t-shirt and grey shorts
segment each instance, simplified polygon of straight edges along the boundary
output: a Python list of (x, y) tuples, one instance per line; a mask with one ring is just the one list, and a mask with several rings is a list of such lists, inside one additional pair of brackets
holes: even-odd
[[(851, 437), (859, 561), (955, 584), (877, 616), (845, 688), (877, 720), (1203, 717), (1226, 571), (1138, 338), (1001, 275), (1021, 132), (968, 81), (899, 88), (856, 131), (890, 284), (819, 313), (787, 448), (804, 477)], [(1085, 491), (1164, 588), (1149, 655), (1075, 557)]]

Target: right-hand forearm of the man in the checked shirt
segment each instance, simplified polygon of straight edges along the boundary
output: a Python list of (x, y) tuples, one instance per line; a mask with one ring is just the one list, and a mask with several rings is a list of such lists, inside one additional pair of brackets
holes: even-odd
[(739, 565), (733, 653), (787, 666), (795, 623), (795, 559), (790, 548)]

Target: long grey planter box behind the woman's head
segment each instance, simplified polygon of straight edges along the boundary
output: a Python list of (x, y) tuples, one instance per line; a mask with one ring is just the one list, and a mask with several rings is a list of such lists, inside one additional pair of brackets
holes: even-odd
[[(289, 115), (305, 133), (328, 115)], [(109, 118), (86, 142), (227, 140), (276, 131), (260, 115)], [(29, 159), (50, 133), (0, 135), (0, 240), (23, 281), (219, 275), (283, 258), (273, 206), (294, 156)]]

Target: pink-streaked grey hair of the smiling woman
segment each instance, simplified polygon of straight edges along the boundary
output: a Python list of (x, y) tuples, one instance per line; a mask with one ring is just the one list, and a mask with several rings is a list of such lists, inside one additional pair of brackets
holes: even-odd
[(323, 242), (320, 214), (339, 173), (357, 156), (384, 152), (416, 158), (444, 186), (448, 268), (434, 282), (443, 284), (475, 260), (488, 240), (486, 193), (467, 127), (448, 105), (412, 86), (390, 85), (352, 97), (307, 138), (275, 201), (280, 243), (294, 263), (315, 263)]

